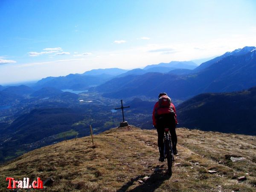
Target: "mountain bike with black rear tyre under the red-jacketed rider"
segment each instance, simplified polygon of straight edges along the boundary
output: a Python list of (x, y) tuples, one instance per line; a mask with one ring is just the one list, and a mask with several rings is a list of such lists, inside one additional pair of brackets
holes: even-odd
[(163, 153), (165, 159), (167, 159), (167, 165), (168, 165), (168, 175), (172, 175), (172, 161), (174, 161), (174, 154), (172, 151), (172, 140), (171, 140), (171, 134), (169, 132), (169, 128), (164, 129), (164, 148)]

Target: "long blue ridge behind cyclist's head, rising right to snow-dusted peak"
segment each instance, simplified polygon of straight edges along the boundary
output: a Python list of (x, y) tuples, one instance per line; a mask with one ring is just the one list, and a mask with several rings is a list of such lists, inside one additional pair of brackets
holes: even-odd
[[(226, 56), (224, 56), (226, 55)], [(167, 92), (175, 99), (188, 99), (205, 92), (227, 92), (248, 89), (256, 85), (256, 48), (244, 47), (231, 55), (214, 58), (207, 67), (195, 68), (178, 75), (145, 73), (113, 78), (95, 88), (109, 98), (144, 95), (155, 97)], [(202, 64), (203, 65), (203, 64)]]

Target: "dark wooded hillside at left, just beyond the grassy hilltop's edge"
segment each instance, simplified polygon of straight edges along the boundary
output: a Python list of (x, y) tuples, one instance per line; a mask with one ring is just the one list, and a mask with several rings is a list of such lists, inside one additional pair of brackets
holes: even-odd
[(34, 109), (1, 128), (0, 152), (8, 160), (17, 157), (19, 151), (31, 151), (64, 140), (58, 134), (74, 129), (73, 123), (82, 119), (84, 116), (79, 110), (70, 108)]

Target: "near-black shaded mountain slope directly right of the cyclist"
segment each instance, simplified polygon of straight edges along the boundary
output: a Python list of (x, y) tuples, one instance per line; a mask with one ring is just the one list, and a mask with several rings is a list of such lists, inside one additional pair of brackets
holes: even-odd
[(256, 135), (256, 87), (241, 92), (204, 93), (177, 106), (180, 126)]

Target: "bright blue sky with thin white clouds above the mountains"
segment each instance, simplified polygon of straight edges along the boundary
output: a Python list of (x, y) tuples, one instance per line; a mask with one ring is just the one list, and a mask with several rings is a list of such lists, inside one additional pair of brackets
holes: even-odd
[(0, 84), (256, 46), (255, 0), (0, 0)]

